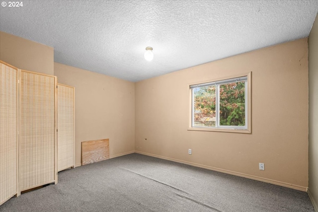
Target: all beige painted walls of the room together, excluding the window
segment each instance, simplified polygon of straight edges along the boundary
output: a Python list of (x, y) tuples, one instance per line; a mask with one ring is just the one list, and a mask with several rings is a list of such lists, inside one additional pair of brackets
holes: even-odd
[[(314, 33), (317, 21), (310, 36), (311, 117), (317, 116)], [(0, 44), (0, 60), (57, 75), (59, 83), (76, 88), (77, 165), (81, 141), (109, 138), (111, 157), (136, 150), (300, 190), (308, 187), (307, 39), (137, 83), (54, 63), (53, 48), (4, 32)], [(248, 71), (252, 71), (252, 134), (187, 131), (188, 84)], [(310, 129), (317, 128), (313, 120)], [(317, 200), (314, 133), (311, 130), (309, 187)], [(259, 162), (265, 163), (265, 171), (258, 170)]]

